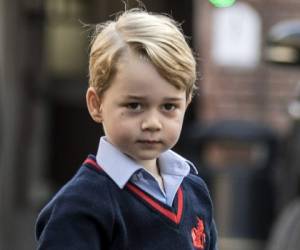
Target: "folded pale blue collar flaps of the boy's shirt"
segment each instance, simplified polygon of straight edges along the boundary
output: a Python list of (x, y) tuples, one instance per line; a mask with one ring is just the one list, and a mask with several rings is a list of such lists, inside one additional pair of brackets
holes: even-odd
[[(120, 188), (126, 185), (134, 173), (143, 169), (141, 165), (109, 143), (105, 136), (100, 138), (96, 160)], [(190, 172), (190, 166), (195, 173), (198, 173), (191, 162), (172, 150), (167, 150), (160, 155), (159, 165), (162, 175), (186, 176)]]

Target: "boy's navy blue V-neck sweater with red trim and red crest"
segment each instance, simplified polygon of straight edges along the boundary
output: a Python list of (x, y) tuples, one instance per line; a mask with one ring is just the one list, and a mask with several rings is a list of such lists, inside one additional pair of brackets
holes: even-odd
[(41, 211), (39, 250), (215, 250), (212, 203), (202, 179), (189, 174), (173, 207), (132, 183), (120, 189), (89, 156)]

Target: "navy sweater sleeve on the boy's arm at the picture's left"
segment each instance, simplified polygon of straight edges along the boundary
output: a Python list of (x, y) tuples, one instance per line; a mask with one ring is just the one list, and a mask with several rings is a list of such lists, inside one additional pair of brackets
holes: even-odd
[(113, 215), (107, 193), (76, 180), (42, 210), (36, 223), (38, 250), (107, 249)]

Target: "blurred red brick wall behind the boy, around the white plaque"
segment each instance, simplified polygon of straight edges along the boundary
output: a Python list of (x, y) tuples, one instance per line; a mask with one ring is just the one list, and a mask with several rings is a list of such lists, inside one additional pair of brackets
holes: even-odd
[[(197, 1), (196, 1), (197, 2)], [(242, 1), (241, 1), (242, 2)], [(275, 23), (300, 18), (299, 0), (249, 0), (262, 20), (262, 46)], [(195, 4), (196, 51), (201, 74), (198, 119), (242, 119), (270, 125), (285, 133), (290, 125), (287, 105), (300, 82), (300, 67), (270, 65), (263, 60), (253, 70), (235, 70), (215, 65), (211, 58), (212, 13), (208, 1)]]

